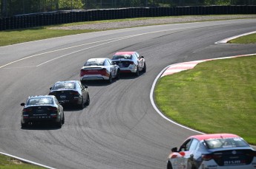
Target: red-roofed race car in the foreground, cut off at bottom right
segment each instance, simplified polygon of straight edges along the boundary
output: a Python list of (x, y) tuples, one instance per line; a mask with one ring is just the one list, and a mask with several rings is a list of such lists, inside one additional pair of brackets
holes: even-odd
[(256, 151), (235, 134), (201, 134), (172, 148), (167, 169), (256, 168)]

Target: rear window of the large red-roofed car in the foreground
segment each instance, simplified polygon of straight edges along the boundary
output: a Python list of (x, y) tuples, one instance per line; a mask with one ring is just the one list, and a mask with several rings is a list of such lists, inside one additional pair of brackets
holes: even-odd
[(241, 138), (220, 138), (204, 140), (208, 148), (248, 147), (249, 145)]

